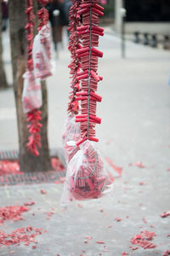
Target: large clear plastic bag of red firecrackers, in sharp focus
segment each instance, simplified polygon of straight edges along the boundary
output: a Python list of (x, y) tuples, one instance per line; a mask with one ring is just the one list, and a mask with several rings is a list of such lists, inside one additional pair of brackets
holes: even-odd
[(61, 204), (100, 198), (111, 185), (109, 173), (93, 143), (86, 141), (80, 147), (68, 163)]

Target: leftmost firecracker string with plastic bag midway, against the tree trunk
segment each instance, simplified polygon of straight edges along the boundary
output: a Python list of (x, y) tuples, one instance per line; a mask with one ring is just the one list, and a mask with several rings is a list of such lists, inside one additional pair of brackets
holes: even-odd
[(26, 113), (27, 125), (31, 136), (26, 147), (31, 154), (38, 155), (38, 149), (41, 147), (40, 124), (41, 112), (38, 110), (42, 106), (42, 91), (40, 80), (35, 78), (32, 60), (33, 46), (33, 1), (26, 0), (26, 39), (27, 39), (27, 71), (24, 74), (24, 89), (22, 94), (23, 109)]

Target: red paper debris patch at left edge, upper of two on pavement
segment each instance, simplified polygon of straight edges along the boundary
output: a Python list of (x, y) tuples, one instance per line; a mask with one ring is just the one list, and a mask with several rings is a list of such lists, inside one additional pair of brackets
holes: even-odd
[(6, 220), (19, 221), (24, 219), (21, 214), (29, 209), (24, 206), (0, 207), (0, 225)]

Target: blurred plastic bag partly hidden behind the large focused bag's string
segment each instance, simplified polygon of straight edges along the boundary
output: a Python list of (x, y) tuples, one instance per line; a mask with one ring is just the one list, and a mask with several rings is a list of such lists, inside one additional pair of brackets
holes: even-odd
[(64, 147), (65, 160), (68, 163), (78, 149), (76, 142), (80, 139), (80, 123), (76, 123), (75, 114), (68, 115), (65, 121), (62, 143)]

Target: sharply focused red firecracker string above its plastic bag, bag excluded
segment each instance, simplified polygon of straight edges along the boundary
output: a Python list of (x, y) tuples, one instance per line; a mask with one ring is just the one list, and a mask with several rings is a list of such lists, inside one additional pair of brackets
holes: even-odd
[(101, 123), (96, 116), (97, 102), (101, 102), (101, 96), (96, 94), (98, 82), (103, 78), (97, 73), (98, 58), (103, 53), (96, 47), (99, 46), (99, 36), (104, 35), (104, 29), (99, 27), (99, 16), (103, 14), (103, 7), (99, 6), (98, 0), (83, 0), (81, 9), (77, 11), (82, 15), (82, 26), (77, 27), (77, 34), (82, 37), (82, 45), (79, 44), (77, 56), (81, 59), (82, 72), (77, 73), (77, 80), (81, 80), (81, 92), (77, 92), (77, 101), (81, 101), (82, 114), (77, 115), (80, 122), (81, 139), (77, 146), (85, 140), (98, 142), (95, 137), (95, 125)]

